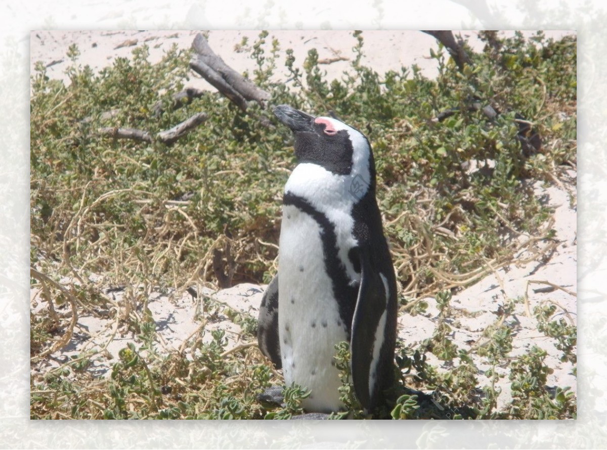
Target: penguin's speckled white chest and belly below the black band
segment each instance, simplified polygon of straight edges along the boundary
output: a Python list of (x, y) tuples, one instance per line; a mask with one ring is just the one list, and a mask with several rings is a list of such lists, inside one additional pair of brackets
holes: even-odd
[[(334, 224), (332, 224), (334, 226)], [(353, 243), (351, 228), (335, 227), (337, 246)], [(337, 411), (341, 406), (335, 345), (347, 340), (333, 283), (325, 267), (322, 226), (295, 206), (285, 206), (279, 251), (279, 337), (285, 383), (311, 391), (302, 406)], [(356, 274), (356, 272), (354, 272)]]

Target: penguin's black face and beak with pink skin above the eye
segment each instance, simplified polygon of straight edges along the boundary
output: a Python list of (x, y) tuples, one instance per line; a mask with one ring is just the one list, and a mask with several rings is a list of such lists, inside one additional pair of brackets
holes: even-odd
[(314, 118), (287, 105), (274, 114), (295, 135), (295, 155), (299, 163), (313, 163), (337, 175), (352, 169), (353, 147), (347, 130), (337, 130), (326, 118)]

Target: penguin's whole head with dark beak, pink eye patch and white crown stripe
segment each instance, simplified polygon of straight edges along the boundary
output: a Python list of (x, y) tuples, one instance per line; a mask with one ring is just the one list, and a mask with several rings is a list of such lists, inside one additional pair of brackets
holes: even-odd
[(335, 175), (375, 173), (371, 146), (359, 130), (335, 118), (313, 117), (287, 105), (274, 108), (274, 114), (293, 131), (299, 163), (317, 164)]

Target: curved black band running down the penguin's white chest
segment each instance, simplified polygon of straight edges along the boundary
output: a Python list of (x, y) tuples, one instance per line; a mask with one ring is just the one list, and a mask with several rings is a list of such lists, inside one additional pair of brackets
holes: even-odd
[[(287, 192), (283, 197), (283, 204), (285, 206), (294, 206), (306, 213), (316, 221), (320, 228), (320, 241), (322, 241), (322, 254), (324, 255), (325, 270), (333, 283), (333, 296), (337, 300), (339, 315), (343, 323), (347, 326), (349, 340), (359, 286), (358, 283), (351, 286), (351, 280), (347, 275), (346, 268), (339, 259), (339, 247), (337, 247), (335, 226), (324, 213), (314, 208), (310, 202), (305, 200), (305, 198)], [(354, 251), (350, 250), (348, 257), (354, 265), (354, 270), (360, 272), (360, 263), (355, 257)]]

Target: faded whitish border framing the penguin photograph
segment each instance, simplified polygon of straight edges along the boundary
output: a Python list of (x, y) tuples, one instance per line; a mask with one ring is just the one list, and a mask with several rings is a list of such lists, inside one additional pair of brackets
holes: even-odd
[[(470, 9), (463, 4), (471, 5)], [(593, 0), (92, 1), (0, 6), (0, 446), (3, 448), (605, 448), (605, 6)], [(577, 421), (155, 423), (29, 421), (29, 44), (42, 29), (577, 29)]]

